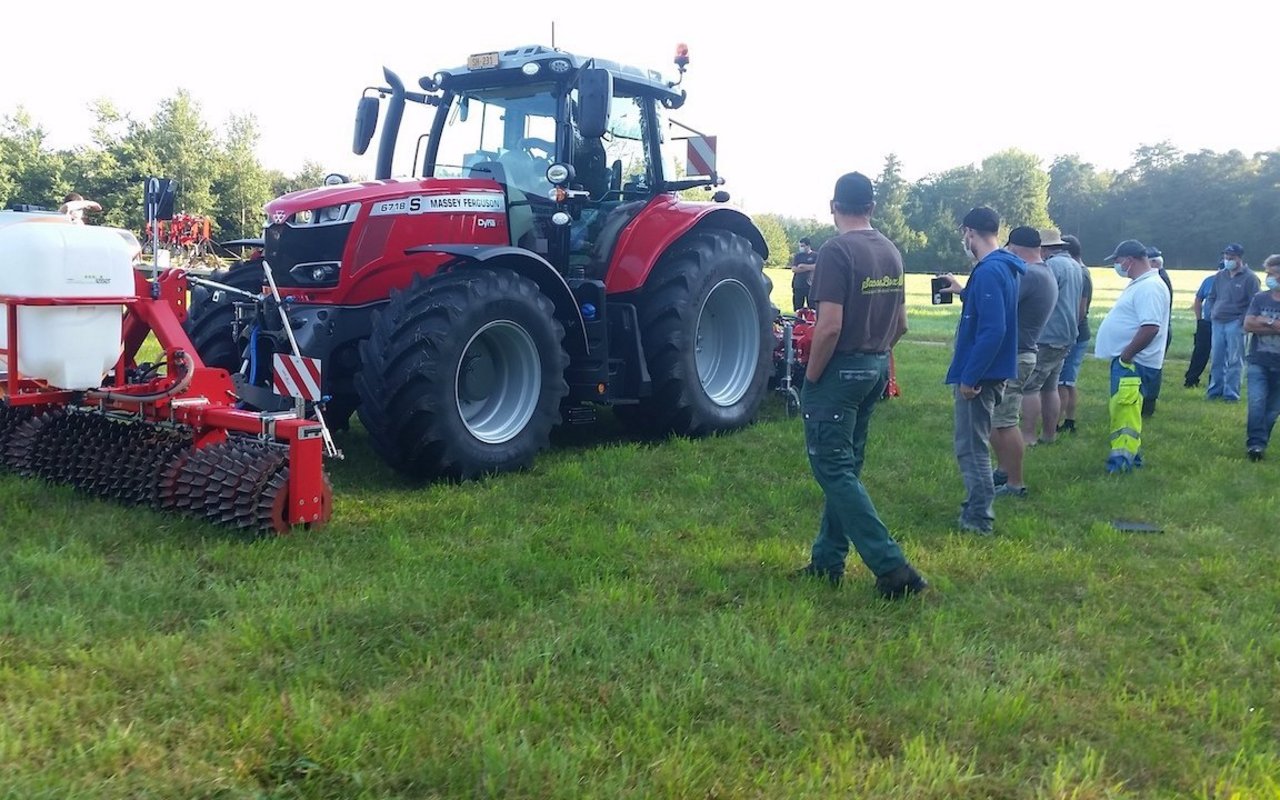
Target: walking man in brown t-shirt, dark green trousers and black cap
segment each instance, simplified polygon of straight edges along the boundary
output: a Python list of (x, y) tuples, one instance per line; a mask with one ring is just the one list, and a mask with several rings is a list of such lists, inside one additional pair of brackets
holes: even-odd
[(810, 301), (818, 307), (800, 394), (809, 466), (826, 495), (809, 563), (797, 575), (838, 585), (852, 544), (887, 599), (928, 584), (906, 562), (863, 486), (872, 410), (888, 381), (888, 351), (906, 333), (902, 256), (872, 228), (872, 182), (849, 173), (836, 182), (836, 230), (818, 251)]

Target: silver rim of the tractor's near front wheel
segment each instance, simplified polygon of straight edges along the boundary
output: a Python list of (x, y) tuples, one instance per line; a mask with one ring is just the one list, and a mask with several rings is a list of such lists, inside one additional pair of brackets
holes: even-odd
[(543, 367), (529, 332), (507, 320), (489, 323), (471, 337), (458, 362), (458, 416), (476, 439), (509, 442), (532, 419), (541, 383)]

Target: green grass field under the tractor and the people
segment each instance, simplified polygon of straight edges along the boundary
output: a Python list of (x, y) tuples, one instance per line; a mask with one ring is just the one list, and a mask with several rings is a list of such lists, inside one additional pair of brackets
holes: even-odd
[(0, 797), (1280, 796), (1280, 452), (1181, 388), (1201, 276), (1148, 466), (1103, 474), (1089, 361), (989, 539), (951, 529), (957, 307), (911, 278), (864, 474), (933, 584), (899, 604), (788, 580), (822, 497), (776, 397), (698, 442), (602, 413), (466, 485), (357, 429), (333, 522), (253, 543), (0, 476)]

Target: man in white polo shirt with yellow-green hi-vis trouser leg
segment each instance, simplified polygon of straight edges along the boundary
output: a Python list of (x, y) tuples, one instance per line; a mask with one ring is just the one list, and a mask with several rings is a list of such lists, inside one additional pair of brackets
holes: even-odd
[(1142, 242), (1120, 242), (1107, 260), (1130, 280), (1098, 326), (1094, 355), (1111, 360), (1107, 472), (1128, 472), (1142, 466), (1142, 398), (1155, 390), (1165, 365), (1170, 294)]

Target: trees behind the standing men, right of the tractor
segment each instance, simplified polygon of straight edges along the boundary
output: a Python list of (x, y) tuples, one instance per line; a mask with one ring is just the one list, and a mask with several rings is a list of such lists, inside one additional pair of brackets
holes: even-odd
[[(957, 225), (973, 206), (1000, 212), (1012, 225), (1059, 228), (1080, 238), (1084, 259), (1098, 264), (1121, 239), (1155, 246), (1171, 269), (1203, 269), (1222, 247), (1240, 242), (1245, 260), (1280, 252), (1280, 150), (1245, 156), (1238, 150), (1181, 152), (1169, 142), (1146, 145), (1124, 170), (1102, 170), (1076, 155), (1053, 159), (1004, 150), (975, 165), (956, 166), (911, 183), (890, 155), (876, 180), (874, 225), (902, 251), (909, 271), (968, 266)], [(835, 234), (829, 221), (756, 215), (773, 247), (814, 247)], [(1002, 232), (1004, 233), (1004, 232)], [(781, 265), (771, 252), (771, 264)]]

